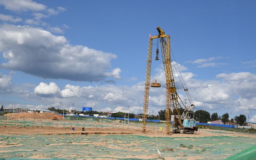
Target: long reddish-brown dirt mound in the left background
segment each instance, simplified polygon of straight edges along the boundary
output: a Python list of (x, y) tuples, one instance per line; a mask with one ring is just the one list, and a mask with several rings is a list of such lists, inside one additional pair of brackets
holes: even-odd
[(8, 116), (10, 118), (32, 118), (32, 119), (52, 119), (52, 117), (58, 116), (57, 113), (28, 113), (28, 112), (20, 112), (20, 113), (7, 113), (4, 116)]

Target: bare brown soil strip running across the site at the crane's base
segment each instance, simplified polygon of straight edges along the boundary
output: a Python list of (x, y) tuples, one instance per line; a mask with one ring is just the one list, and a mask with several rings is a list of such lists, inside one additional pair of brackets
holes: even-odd
[[(75, 131), (72, 131), (71, 128), (57, 128), (57, 127), (20, 127), (20, 126), (1, 126), (0, 134), (1, 135), (33, 135), (33, 134), (133, 134), (133, 135), (143, 135), (148, 137), (210, 137), (210, 136), (230, 136), (230, 137), (254, 137), (255, 134), (244, 134), (230, 131), (221, 131), (221, 133), (211, 133), (209, 129), (201, 129), (195, 134), (166, 134), (165, 131), (146, 131), (145, 133), (139, 130), (129, 130), (129, 129), (116, 129), (116, 128), (85, 128), (85, 131), (80, 131), (80, 128), (75, 128)], [(212, 130), (216, 131), (216, 130)]]

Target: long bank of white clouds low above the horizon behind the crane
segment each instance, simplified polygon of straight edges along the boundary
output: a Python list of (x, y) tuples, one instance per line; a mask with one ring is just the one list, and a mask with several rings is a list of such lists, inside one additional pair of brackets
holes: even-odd
[[(238, 82), (240, 83), (243, 81), (242, 86), (252, 87), (252, 81), (256, 75), (248, 73), (232, 73), (218, 75), (217, 77), (219, 80), (215, 81), (188, 79), (189, 81), (187, 81), (188, 83), (186, 84), (189, 88), (196, 110), (203, 109), (210, 113), (217, 112), (220, 116), (226, 112), (232, 112), (233, 116), (239, 116), (240, 114), (246, 116), (251, 113), (255, 114), (256, 105), (254, 104), (256, 104), (256, 97), (254, 96), (250, 99), (244, 97), (243, 88), (238, 85)], [(232, 81), (230, 81), (231, 79)], [(33, 99), (38, 99), (46, 97), (44, 96), (45, 94), (51, 94), (54, 95), (54, 98), (49, 99), (48, 96), (47, 99), (45, 99), (47, 103), (53, 104), (54, 102), (60, 102), (60, 104), (66, 104), (67, 108), (70, 108), (72, 103), (75, 103), (76, 110), (81, 110), (81, 107), (77, 107), (76, 104), (83, 104), (84, 106), (93, 107), (94, 111), (109, 111), (111, 108), (111, 111), (125, 112), (128, 111), (127, 106), (130, 105), (130, 113), (142, 113), (144, 85), (145, 82), (134, 84), (131, 87), (122, 85), (119, 85), (118, 87), (113, 85), (80, 87), (67, 84), (64, 90), (60, 91), (55, 83), (51, 82), (48, 85), (41, 82), (37, 87), (34, 87), (34, 93), (36, 93), (38, 97), (33, 97), (31, 93), (27, 90), (23, 91), (21, 88), (19, 88), (20, 91), (18, 91), (15, 86), (14, 90), (17, 91), (16, 94), (26, 93), (27, 99), (29, 99), (29, 97), (30, 99), (32, 99), (32, 97)], [(24, 86), (23, 89), (25, 88), (26, 87)], [(247, 93), (255, 95), (255, 88), (248, 90)], [(61, 96), (58, 97), (58, 94)], [(182, 89), (179, 90), (179, 96), (183, 101), (186, 98)], [(108, 106), (99, 107), (101, 104)], [(154, 114), (156, 115), (158, 111), (163, 109), (165, 109), (165, 88), (151, 88), (148, 111), (154, 111)], [(250, 121), (253, 122), (253, 120)]]

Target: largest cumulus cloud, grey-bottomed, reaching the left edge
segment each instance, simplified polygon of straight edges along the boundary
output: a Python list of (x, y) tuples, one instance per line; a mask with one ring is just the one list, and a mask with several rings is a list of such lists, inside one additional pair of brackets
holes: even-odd
[(110, 61), (116, 55), (72, 46), (64, 36), (41, 28), (2, 25), (0, 52), (7, 60), (0, 67), (42, 78), (90, 82), (122, 78), (119, 68), (111, 69)]

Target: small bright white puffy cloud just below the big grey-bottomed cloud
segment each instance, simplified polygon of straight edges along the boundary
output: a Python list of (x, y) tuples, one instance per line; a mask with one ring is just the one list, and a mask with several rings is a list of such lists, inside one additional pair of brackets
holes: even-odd
[(34, 92), (36, 94), (58, 94), (60, 89), (54, 82), (50, 82), (49, 85), (41, 82), (37, 87), (35, 87)]

